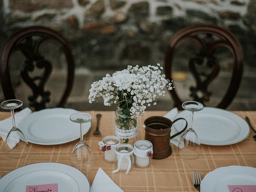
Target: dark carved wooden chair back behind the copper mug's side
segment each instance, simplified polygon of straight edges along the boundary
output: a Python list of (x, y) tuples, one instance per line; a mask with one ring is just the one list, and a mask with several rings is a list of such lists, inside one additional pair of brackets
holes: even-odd
[[(173, 36), (166, 52), (164, 65), (166, 78), (168, 79), (172, 79), (174, 51), (184, 42), (192, 42), (199, 48), (199, 52), (188, 61), (188, 68), (196, 82), (195, 87), (190, 87), (190, 96), (193, 100), (203, 104), (209, 101), (211, 92), (208, 91), (208, 86), (220, 71), (220, 65), (214, 56), (216, 49), (225, 47), (232, 53), (234, 62), (230, 84), (222, 100), (216, 105), (218, 108), (226, 108), (236, 95), (242, 78), (243, 51), (237, 38), (228, 30), (218, 26), (198, 25), (181, 29)], [(205, 60), (206, 62), (204, 62)], [(211, 72), (207, 74), (198, 72), (197, 67), (202, 65), (210, 68)], [(181, 108), (183, 101), (180, 100), (175, 89), (171, 90), (170, 94), (175, 102), (175, 106)]]

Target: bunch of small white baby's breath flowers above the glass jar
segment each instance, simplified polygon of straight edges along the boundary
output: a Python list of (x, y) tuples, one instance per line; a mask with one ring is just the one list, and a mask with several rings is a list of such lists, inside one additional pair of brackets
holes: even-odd
[[(102, 80), (91, 85), (89, 102), (102, 97), (104, 105), (111, 106), (122, 102), (133, 117), (144, 114), (147, 106), (156, 105), (158, 96), (164, 95), (164, 88), (172, 90), (172, 81), (166, 80), (162, 66), (128, 66), (127, 69), (106, 74)], [(124, 107), (124, 106), (122, 106)]]

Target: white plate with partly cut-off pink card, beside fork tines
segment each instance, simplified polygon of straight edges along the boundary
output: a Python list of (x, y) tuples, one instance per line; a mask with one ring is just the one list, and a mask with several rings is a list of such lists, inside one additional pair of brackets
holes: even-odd
[(204, 176), (200, 192), (229, 192), (228, 185), (256, 185), (256, 168), (220, 167)]

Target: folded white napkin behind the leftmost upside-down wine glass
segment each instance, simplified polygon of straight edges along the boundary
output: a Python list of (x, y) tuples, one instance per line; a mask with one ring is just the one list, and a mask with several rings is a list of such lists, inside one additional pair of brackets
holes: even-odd
[[(25, 108), (23, 110), (21, 110), (20, 112), (15, 114), (15, 123), (16, 126), (21, 122), (21, 120), (23, 118), (25, 118), (26, 116), (28, 116), (29, 114), (31, 114), (31, 109), (30, 108)], [(19, 127), (19, 126), (17, 126)], [(12, 117), (6, 118), (2, 121), (0, 121), (0, 136), (2, 137), (2, 139), (5, 141), (7, 134), (9, 133), (9, 131), (12, 129)], [(10, 148), (13, 148), (16, 144), (18, 143), (18, 141), (14, 141), (14, 143), (12, 144), (12, 146), (9, 146)]]

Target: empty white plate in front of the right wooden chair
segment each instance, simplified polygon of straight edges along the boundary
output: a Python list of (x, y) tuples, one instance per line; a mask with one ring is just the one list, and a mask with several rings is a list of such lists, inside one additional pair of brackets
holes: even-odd
[[(188, 122), (190, 112), (182, 111), (176, 118), (183, 117)], [(184, 121), (174, 123), (174, 128), (181, 131)], [(193, 129), (201, 144), (229, 145), (244, 140), (250, 133), (246, 121), (240, 116), (224, 109), (205, 107), (202, 111), (194, 112)]]

